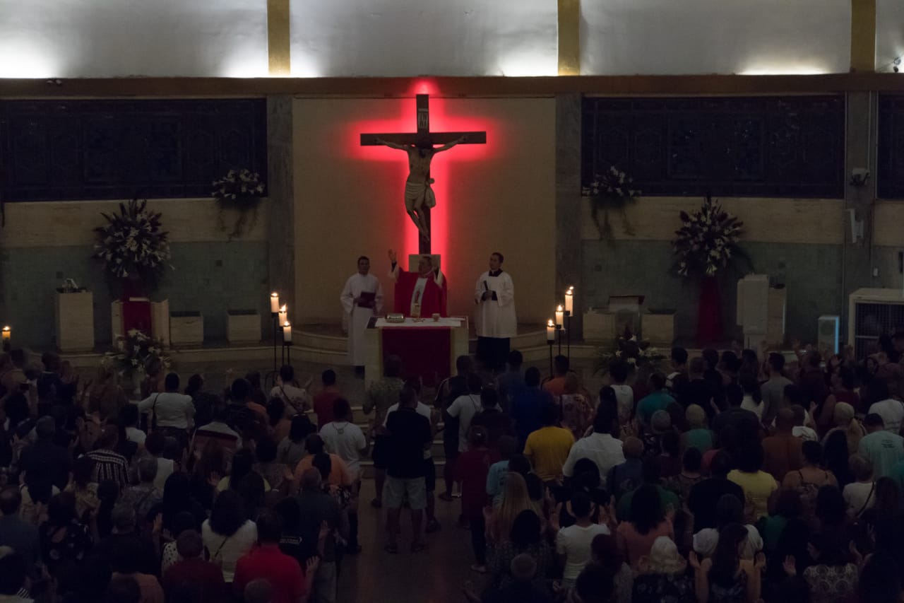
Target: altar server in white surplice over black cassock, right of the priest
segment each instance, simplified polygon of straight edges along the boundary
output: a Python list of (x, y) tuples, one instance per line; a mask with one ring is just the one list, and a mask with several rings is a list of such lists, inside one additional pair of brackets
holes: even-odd
[(517, 334), (514, 313), (514, 283), (503, 272), (503, 254), (490, 255), (489, 271), (480, 275), (474, 291), (477, 304), (477, 359), (487, 369), (502, 369), (508, 358), (510, 339)]

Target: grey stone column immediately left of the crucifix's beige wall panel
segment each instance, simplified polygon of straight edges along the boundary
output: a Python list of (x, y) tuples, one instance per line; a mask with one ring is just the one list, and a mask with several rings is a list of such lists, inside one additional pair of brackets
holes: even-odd
[[(295, 305), (295, 177), (292, 154), (292, 95), (267, 98), (267, 225), (270, 291)], [(299, 326), (299, 325), (296, 325)]]

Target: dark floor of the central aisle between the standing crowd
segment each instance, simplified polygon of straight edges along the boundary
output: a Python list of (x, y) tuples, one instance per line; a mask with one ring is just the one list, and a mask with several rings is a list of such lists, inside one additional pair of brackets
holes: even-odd
[[(441, 492), (441, 479), (437, 484)], [(364, 480), (362, 509), (359, 511), (360, 541), (363, 551), (346, 557), (339, 579), (339, 603), (462, 603), (467, 581), (478, 592), (484, 576), (470, 569), (474, 562), (470, 532), (456, 525), (461, 503), (437, 501), (437, 518), (442, 530), (428, 534), (428, 548), (409, 551), (411, 523), (402, 512), (400, 553), (383, 550), (385, 509), (373, 509), (373, 480)]]

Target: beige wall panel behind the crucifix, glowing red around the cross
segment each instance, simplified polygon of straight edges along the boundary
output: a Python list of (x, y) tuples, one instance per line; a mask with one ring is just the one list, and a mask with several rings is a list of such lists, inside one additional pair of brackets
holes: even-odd
[[(430, 99), (434, 131), (485, 130), (486, 145), (434, 159), (433, 251), (442, 255), (449, 311), (470, 314), (489, 254), (505, 255), (521, 322), (541, 323), (554, 283), (555, 106), (552, 99)], [(404, 153), (361, 148), (362, 132), (413, 131), (414, 99), (297, 100), (296, 297), (308, 322), (338, 322), (358, 255), (393, 295), (386, 250), (417, 252), (404, 211)]]

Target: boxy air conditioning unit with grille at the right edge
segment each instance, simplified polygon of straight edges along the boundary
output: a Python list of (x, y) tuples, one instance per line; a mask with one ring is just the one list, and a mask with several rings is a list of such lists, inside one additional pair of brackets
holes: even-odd
[(848, 299), (848, 341), (864, 359), (882, 335), (904, 329), (904, 294), (900, 289), (858, 289)]

